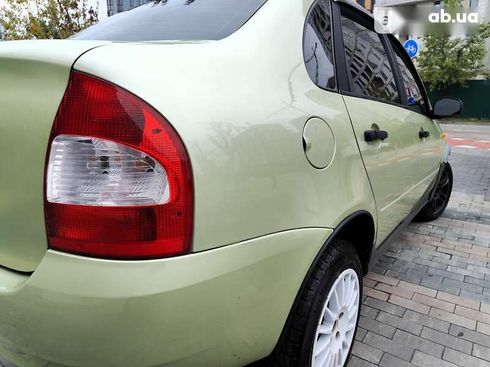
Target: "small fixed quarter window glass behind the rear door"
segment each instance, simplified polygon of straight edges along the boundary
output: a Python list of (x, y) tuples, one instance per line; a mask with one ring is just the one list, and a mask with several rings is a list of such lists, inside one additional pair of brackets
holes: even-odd
[(327, 1), (317, 1), (308, 14), (303, 48), (311, 80), (320, 88), (335, 89), (332, 24)]

